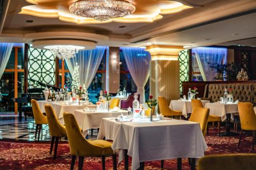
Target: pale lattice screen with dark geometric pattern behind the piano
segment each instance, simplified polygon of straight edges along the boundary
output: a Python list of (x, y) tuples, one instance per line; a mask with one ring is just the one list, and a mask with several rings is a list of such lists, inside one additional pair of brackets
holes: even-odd
[[(29, 47), (29, 79), (37, 80), (42, 83), (55, 84), (55, 59), (49, 50), (40, 50)], [(29, 88), (40, 88), (29, 80)], [(44, 87), (43, 87), (44, 88)]]

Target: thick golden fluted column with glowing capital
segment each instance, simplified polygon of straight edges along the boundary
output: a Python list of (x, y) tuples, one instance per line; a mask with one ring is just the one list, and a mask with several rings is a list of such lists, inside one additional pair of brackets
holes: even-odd
[(150, 45), (146, 51), (151, 54), (150, 93), (156, 98), (163, 96), (168, 104), (180, 98), (179, 94), (179, 52), (182, 46)]

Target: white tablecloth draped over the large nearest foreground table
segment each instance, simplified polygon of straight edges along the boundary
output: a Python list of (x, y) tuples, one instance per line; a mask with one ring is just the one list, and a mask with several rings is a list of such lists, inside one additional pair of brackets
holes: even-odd
[(139, 162), (172, 158), (201, 158), (207, 149), (200, 124), (168, 119), (157, 122), (118, 123), (103, 118), (98, 139), (112, 139), (112, 149), (123, 159), (123, 149), (132, 157), (132, 169)]

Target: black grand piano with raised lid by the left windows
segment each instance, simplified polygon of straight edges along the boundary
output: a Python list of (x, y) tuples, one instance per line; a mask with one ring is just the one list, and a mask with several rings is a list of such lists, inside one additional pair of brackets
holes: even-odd
[[(53, 90), (57, 91), (60, 88), (55, 87), (50, 84), (41, 83), (39, 81), (30, 79), (34, 83), (39, 84), (42, 87), (52, 88)], [(33, 116), (32, 107), (30, 104), (31, 99), (35, 99), (37, 101), (39, 100), (45, 100), (45, 95), (42, 92), (45, 88), (30, 88), (28, 89), (28, 93), (22, 94), (20, 98), (15, 98), (15, 102), (18, 103), (18, 114), (19, 114), (19, 122), (22, 121), (22, 112), (24, 112), (25, 120), (27, 120), (27, 116), (31, 115)]]

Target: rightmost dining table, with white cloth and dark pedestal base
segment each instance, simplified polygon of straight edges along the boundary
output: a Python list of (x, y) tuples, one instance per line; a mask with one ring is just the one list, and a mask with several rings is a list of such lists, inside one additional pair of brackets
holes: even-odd
[(226, 122), (226, 132), (221, 133), (222, 136), (238, 135), (230, 132), (231, 122), (234, 120), (234, 115), (239, 115), (237, 103), (206, 103), (205, 108), (210, 109), (210, 115), (220, 116), (222, 122)]

